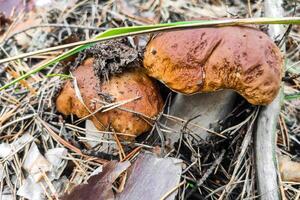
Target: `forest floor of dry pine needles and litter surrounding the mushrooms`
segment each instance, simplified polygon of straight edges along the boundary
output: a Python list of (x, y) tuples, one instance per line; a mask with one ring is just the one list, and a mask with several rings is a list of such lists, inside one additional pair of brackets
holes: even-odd
[[(13, 2), (17, 5), (14, 9), (11, 5)], [(285, 16), (300, 13), (300, 3), (295, 6), (294, 1), (285, 1), (284, 10)], [(15, 0), (1, 1), (0, 12), (5, 13), (0, 14), (2, 59), (87, 40), (114, 27), (186, 21), (201, 17), (261, 17), (264, 10), (263, 0), (36, 0), (26, 4)], [(268, 26), (258, 28), (266, 31)], [(277, 44), (282, 41), (286, 43), (286, 74), (282, 81), (284, 103), (276, 130), (277, 153), (300, 161), (300, 27), (285, 28), (285, 37), (275, 41)], [(149, 35), (140, 37), (136, 48), (142, 51), (148, 38)], [(130, 41), (135, 39), (129, 38)], [(0, 64), (0, 86), (61, 53), (61, 50), (52, 51)], [(146, 151), (157, 156), (165, 146), (162, 145), (164, 140), (160, 133), (164, 133), (166, 127), (159, 125), (156, 126), (157, 130), (139, 136), (130, 144), (114, 137), (91, 139), (86, 123), (77, 123), (76, 117), (64, 118), (56, 110), (53, 99), (66, 78), (61, 75), (62, 68), (63, 63), (56, 64), (0, 91), (0, 199), (58, 199), (74, 186), (86, 182), (95, 171), (113, 171), (116, 166), (122, 170), (111, 172), (118, 176), (107, 183), (106, 189), (114, 194), (121, 194), (123, 191), (125, 195), (128, 190), (124, 186), (127, 174), (124, 170), (129, 165), (124, 163), (134, 163), (138, 154), (142, 155)], [(166, 88), (161, 93), (165, 100), (170, 93), (175, 95)], [(173, 149), (166, 147), (171, 149), (163, 158), (181, 160), (181, 175), (176, 177), (161, 169), (161, 172), (153, 176), (173, 180), (176, 183), (173, 193), (175, 196), (177, 192), (176, 199), (258, 198), (252, 129), (259, 107), (250, 105), (241, 97), (237, 98), (234, 105), (232, 112), (217, 122), (217, 128), (213, 130), (223, 137), (212, 135), (207, 140), (202, 140), (192, 137), (188, 129), (183, 129), (180, 130), (180, 144)], [(180, 123), (184, 121), (177, 120)], [(246, 134), (249, 137), (245, 137)], [(93, 142), (97, 145), (93, 145)], [(121, 161), (121, 150), (125, 154), (122, 161), (126, 162), (110, 162)], [(140, 166), (150, 165), (149, 162), (158, 157), (141, 156)], [(169, 160), (159, 162), (160, 167), (174, 167)], [(103, 167), (104, 163), (110, 164)], [(156, 173), (148, 170), (145, 173)], [(146, 177), (147, 174), (141, 176)], [(149, 183), (142, 183), (139, 187), (153, 187)], [(161, 190), (164, 191), (163, 189), (162, 187)], [(284, 191), (282, 195), (287, 199), (297, 199), (300, 196), (299, 182), (282, 181), (281, 189)], [(169, 190), (164, 192), (167, 194)], [(112, 192), (105, 195), (112, 195)]]

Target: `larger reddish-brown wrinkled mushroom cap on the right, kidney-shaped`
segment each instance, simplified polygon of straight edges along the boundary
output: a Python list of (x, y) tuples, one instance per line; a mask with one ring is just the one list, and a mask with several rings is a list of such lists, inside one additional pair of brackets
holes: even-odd
[(263, 32), (242, 26), (158, 34), (144, 55), (148, 74), (184, 94), (233, 89), (250, 103), (279, 91), (283, 56)]

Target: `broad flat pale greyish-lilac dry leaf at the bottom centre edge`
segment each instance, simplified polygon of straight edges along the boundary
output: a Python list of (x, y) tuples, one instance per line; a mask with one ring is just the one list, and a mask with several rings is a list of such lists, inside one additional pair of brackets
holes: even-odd
[[(160, 158), (152, 153), (142, 153), (127, 170), (128, 180), (123, 192), (116, 199), (152, 200), (161, 199), (175, 188), (182, 172), (182, 161), (176, 158)], [(175, 199), (173, 192), (166, 199)]]

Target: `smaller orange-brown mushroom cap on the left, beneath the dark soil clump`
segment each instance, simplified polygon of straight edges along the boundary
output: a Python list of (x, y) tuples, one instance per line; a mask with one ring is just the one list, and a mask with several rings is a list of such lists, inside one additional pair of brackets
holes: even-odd
[(109, 81), (100, 84), (93, 71), (93, 58), (89, 58), (72, 74), (76, 78), (84, 104), (89, 110), (76, 96), (73, 82), (67, 81), (56, 99), (57, 110), (65, 115), (72, 113), (82, 118), (89, 115), (89, 111), (98, 110), (103, 106), (100, 101), (104, 101), (99, 93), (109, 95), (114, 102), (140, 97), (121, 106), (127, 111), (115, 108), (104, 113), (97, 112), (94, 116), (89, 117), (100, 130), (105, 130), (110, 126), (116, 132), (138, 136), (148, 131), (151, 125), (136, 113), (153, 118), (162, 110), (163, 102), (158, 88), (138, 68), (113, 75)]

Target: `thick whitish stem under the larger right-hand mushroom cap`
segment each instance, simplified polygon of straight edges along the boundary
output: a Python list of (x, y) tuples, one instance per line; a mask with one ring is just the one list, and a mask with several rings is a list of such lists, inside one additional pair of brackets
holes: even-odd
[[(172, 102), (170, 115), (184, 121), (167, 119), (166, 125), (179, 132), (187, 120), (200, 115), (188, 123), (187, 128), (192, 134), (205, 139), (211, 134), (207, 131), (211, 124), (223, 119), (232, 110), (235, 97), (235, 92), (230, 90), (189, 96), (177, 94)], [(180, 138), (180, 134), (171, 132), (167, 133), (166, 137), (174, 144)]]

